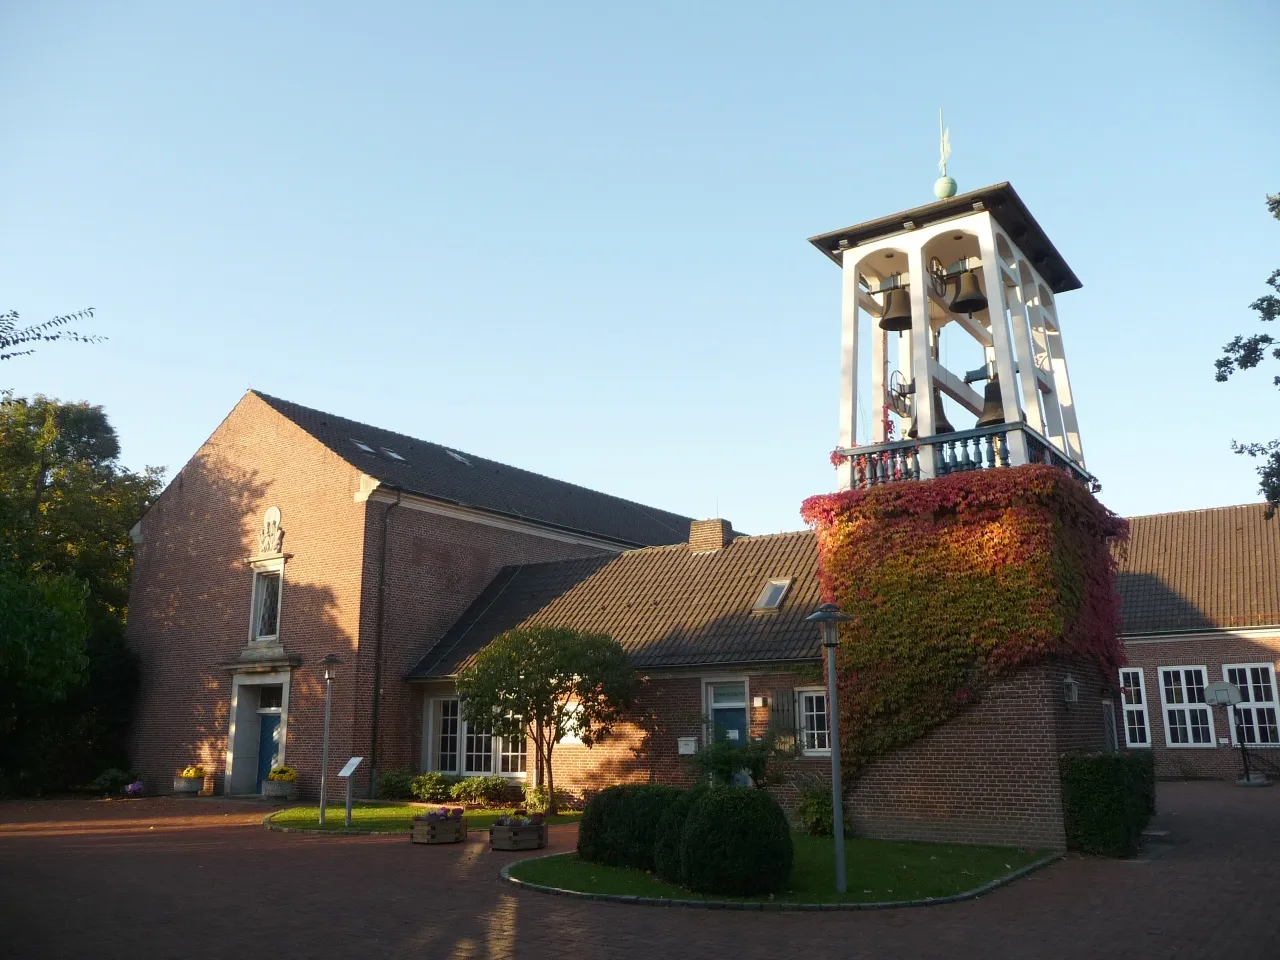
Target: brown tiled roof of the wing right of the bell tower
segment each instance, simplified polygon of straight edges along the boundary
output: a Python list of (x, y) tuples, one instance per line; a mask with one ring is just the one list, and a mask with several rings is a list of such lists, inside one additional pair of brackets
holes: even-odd
[(1124, 632), (1280, 623), (1280, 517), (1263, 504), (1129, 521), (1120, 563)]

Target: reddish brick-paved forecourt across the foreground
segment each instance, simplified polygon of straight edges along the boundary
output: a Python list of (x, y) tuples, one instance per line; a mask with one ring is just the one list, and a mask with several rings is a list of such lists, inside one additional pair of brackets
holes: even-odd
[[(1280, 787), (1171, 783), (1169, 844), (1071, 858), (978, 901), (846, 914), (628, 908), (520, 892), (481, 844), (269, 833), (220, 800), (0, 805), (17, 957), (1266, 957)], [(553, 828), (567, 847), (573, 827)]]

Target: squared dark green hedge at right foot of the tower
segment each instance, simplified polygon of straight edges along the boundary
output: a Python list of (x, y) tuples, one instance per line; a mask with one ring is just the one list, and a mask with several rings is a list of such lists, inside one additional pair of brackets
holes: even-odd
[(1133, 856), (1156, 812), (1156, 762), (1149, 750), (1065, 754), (1062, 818), (1066, 846), (1085, 854)]

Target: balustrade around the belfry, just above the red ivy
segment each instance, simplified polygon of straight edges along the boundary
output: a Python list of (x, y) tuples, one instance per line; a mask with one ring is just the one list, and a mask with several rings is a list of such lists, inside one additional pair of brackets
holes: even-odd
[(1027, 424), (993, 424), (916, 440), (891, 440), (863, 447), (837, 447), (845, 457), (845, 489), (865, 490), (904, 480), (928, 480), (973, 470), (1001, 470), (1044, 463), (1065, 470), (1091, 493), (1097, 477)]

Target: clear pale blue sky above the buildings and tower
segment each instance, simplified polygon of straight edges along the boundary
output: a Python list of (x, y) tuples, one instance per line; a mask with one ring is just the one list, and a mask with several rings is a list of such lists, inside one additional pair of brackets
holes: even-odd
[[(360, 9), (371, 8), (371, 9)], [(963, 14), (961, 14), (963, 10)], [(750, 532), (831, 489), (805, 238), (1010, 180), (1126, 515), (1257, 499), (1280, 392), (1212, 361), (1280, 266), (1270, 4), (0, 10), (0, 308), (97, 347), (0, 387), (174, 471), (253, 387)]]

